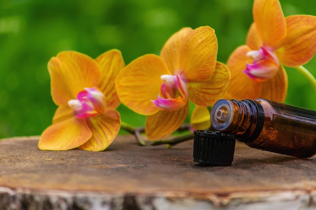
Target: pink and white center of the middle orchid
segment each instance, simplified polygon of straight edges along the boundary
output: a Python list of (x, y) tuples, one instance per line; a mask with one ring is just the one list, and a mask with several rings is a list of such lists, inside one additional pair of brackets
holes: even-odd
[(188, 89), (179, 75), (162, 75), (160, 94), (151, 102), (165, 111), (175, 111), (183, 107), (188, 100)]

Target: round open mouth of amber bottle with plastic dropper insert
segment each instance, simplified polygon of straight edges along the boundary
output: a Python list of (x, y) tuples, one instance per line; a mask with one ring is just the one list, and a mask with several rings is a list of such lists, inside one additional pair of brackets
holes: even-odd
[(233, 121), (234, 110), (233, 104), (230, 100), (221, 99), (217, 101), (210, 113), (212, 126), (220, 131), (229, 128)]

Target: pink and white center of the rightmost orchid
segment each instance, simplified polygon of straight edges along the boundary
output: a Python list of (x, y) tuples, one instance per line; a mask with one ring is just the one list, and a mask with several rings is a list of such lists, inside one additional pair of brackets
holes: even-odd
[(253, 62), (252, 64), (247, 63), (247, 67), (243, 72), (255, 82), (267, 81), (278, 73), (280, 63), (272, 51), (260, 47), (259, 50), (248, 52), (247, 56)]

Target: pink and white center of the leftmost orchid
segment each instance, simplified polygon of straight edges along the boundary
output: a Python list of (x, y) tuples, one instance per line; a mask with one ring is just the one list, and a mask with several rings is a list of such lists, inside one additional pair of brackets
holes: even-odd
[(93, 117), (106, 109), (106, 97), (97, 88), (84, 88), (68, 105), (76, 111), (77, 118)]

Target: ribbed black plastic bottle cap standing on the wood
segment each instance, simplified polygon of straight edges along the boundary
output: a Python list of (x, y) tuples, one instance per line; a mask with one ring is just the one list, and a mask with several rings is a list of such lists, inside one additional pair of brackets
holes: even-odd
[(220, 131), (194, 130), (194, 161), (203, 165), (231, 166), (235, 143), (235, 135)]

